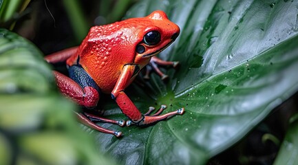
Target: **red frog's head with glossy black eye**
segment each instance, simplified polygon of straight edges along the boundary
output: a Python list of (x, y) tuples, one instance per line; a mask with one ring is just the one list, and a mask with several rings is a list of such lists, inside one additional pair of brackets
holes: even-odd
[(140, 18), (139, 27), (135, 63), (148, 61), (171, 45), (180, 33), (178, 25), (171, 22), (162, 11), (154, 11)]

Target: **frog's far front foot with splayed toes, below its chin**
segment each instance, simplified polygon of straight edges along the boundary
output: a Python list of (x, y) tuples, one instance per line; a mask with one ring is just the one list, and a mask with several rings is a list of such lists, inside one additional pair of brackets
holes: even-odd
[(149, 74), (153, 71), (155, 71), (160, 78), (162, 78), (162, 80), (167, 79), (169, 76), (167, 76), (167, 74), (164, 74), (159, 68), (158, 65), (162, 65), (162, 66), (168, 66), (171, 65), (173, 67), (177, 67), (179, 64), (178, 61), (162, 61), (160, 58), (157, 58), (156, 56), (153, 56), (151, 58), (151, 61), (149, 63), (149, 65), (147, 65), (146, 67), (146, 74), (144, 76), (145, 79), (149, 79)]

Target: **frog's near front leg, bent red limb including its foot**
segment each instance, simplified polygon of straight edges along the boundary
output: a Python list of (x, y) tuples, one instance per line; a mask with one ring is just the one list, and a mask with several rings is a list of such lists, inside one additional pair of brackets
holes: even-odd
[(135, 106), (134, 102), (132, 102), (124, 92), (125, 87), (127, 87), (127, 85), (131, 83), (131, 81), (134, 79), (136, 74), (138, 74), (139, 69), (140, 68), (138, 67), (138, 65), (133, 65), (133, 64), (125, 65), (120, 74), (120, 77), (118, 78), (115, 88), (111, 92), (111, 97), (114, 100), (116, 100), (121, 111), (123, 111), (123, 113), (127, 115), (127, 117), (130, 120), (127, 122), (127, 126), (129, 126), (130, 124), (137, 124), (137, 125), (153, 124), (160, 120), (166, 120), (167, 118), (173, 115), (177, 115), (177, 114), (181, 115), (182, 113), (184, 113), (184, 108), (181, 108), (176, 111), (166, 113), (164, 115), (159, 115), (162, 112), (162, 110), (165, 109), (165, 106), (162, 106), (160, 111), (158, 111), (158, 113), (154, 115), (149, 116), (149, 113), (146, 113), (146, 115), (143, 115)]

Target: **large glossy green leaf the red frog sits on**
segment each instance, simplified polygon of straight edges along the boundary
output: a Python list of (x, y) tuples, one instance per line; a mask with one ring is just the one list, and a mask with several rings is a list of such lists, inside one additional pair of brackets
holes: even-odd
[[(126, 91), (143, 113), (160, 104), (186, 112), (146, 128), (101, 124), (125, 135), (92, 131), (98, 147), (121, 164), (204, 164), (235, 144), (298, 89), (297, 5), (139, 1), (127, 18), (164, 10), (180, 26), (178, 39), (159, 55), (180, 68), (167, 69), (167, 83), (152, 74), (145, 87)], [(114, 102), (104, 109), (107, 118), (125, 118)]]

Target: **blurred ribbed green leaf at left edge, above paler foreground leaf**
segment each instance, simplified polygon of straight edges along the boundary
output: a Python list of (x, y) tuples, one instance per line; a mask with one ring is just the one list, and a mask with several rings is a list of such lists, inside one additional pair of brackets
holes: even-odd
[(54, 89), (54, 77), (41, 52), (25, 39), (1, 29), (0, 54), (1, 93), (46, 94)]

